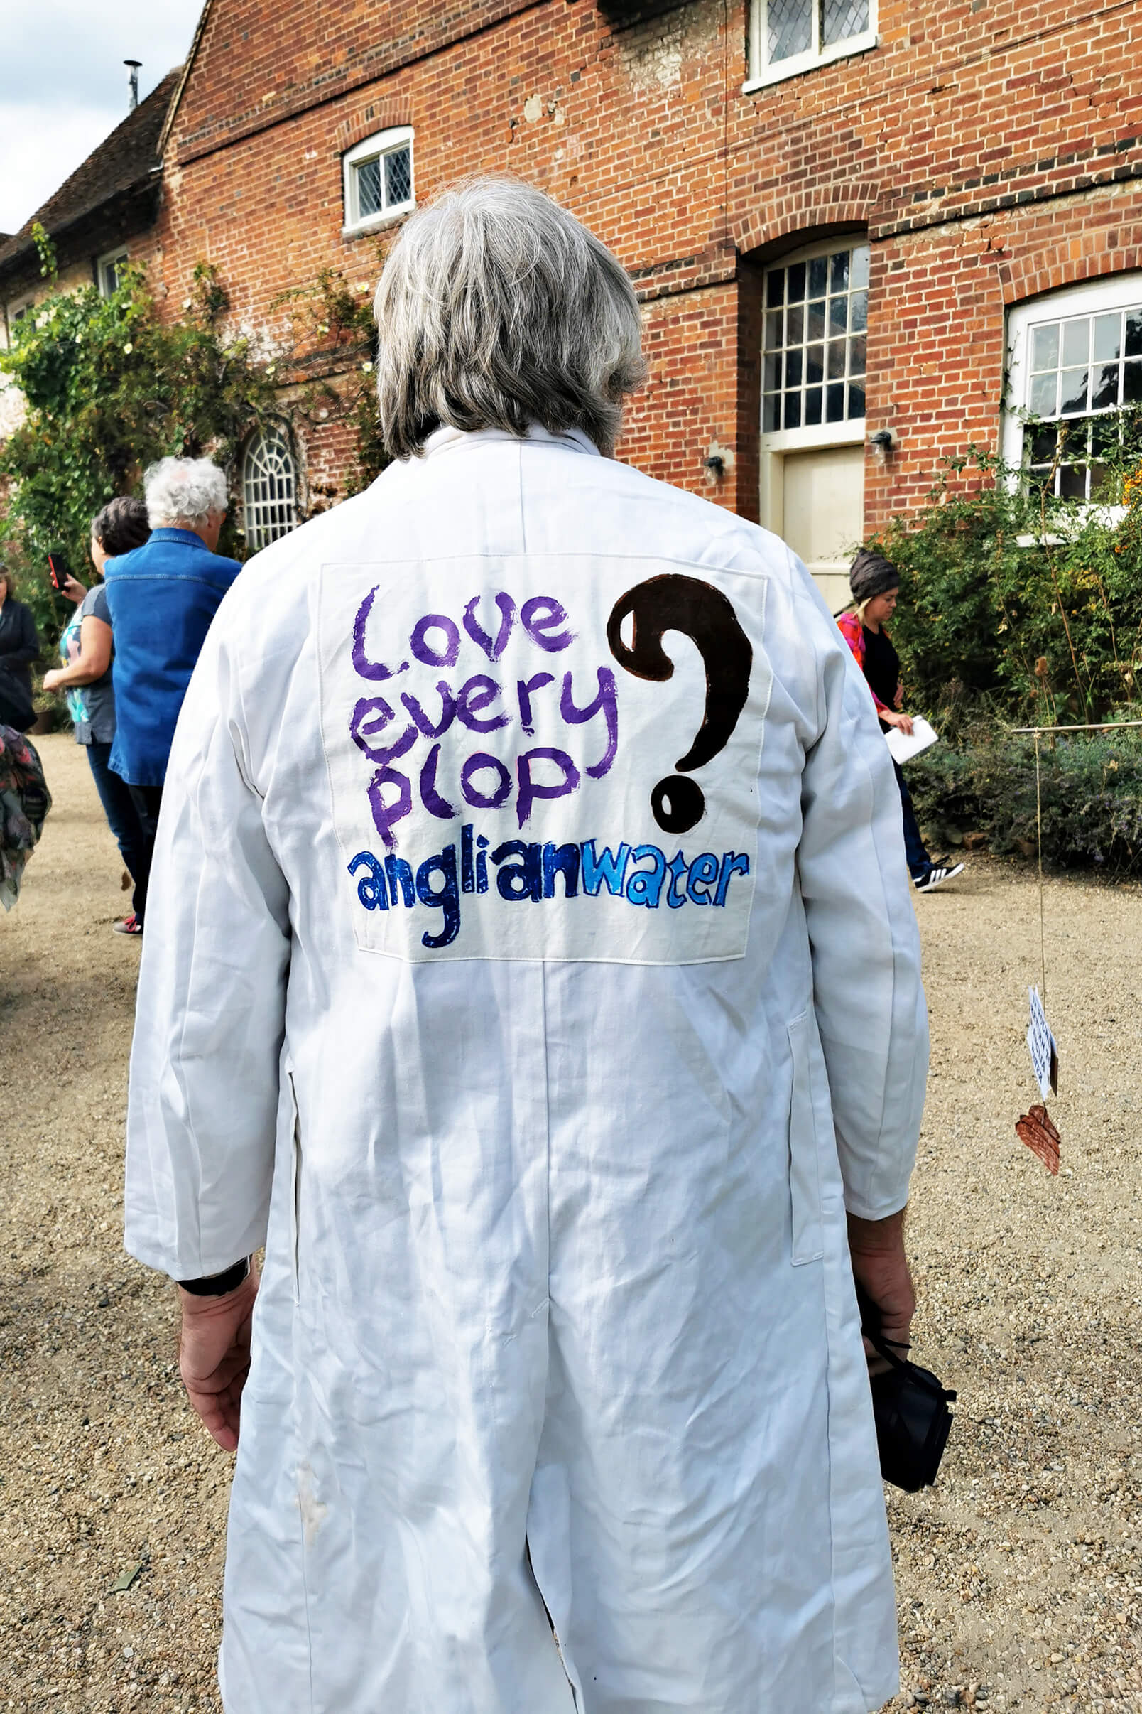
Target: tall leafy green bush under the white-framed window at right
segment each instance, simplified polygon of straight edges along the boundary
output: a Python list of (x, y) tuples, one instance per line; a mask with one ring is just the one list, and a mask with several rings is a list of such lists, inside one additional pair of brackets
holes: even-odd
[(1048, 725), (1137, 704), (1140, 451), (1125, 420), (1101, 504), (1075, 506), (972, 446), (926, 507), (870, 542), (901, 571), (892, 641), (911, 706), (969, 715), (990, 698), (1014, 723)]

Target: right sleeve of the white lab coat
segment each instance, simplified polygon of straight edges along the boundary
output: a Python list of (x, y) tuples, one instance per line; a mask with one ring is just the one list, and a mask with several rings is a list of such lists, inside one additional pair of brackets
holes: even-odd
[(801, 778), (798, 869), (813, 1004), (851, 1214), (907, 1202), (928, 1078), (919, 932), (901, 794), (868, 686), (794, 560), (803, 632), (817, 641), (818, 737)]

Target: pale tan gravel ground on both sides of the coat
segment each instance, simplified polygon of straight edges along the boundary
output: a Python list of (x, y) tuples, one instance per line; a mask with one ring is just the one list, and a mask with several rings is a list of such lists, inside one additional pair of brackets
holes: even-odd
[[(181, 1402), (173, 1289), (120, 1246), (139, 943), (110, 932), (127, 907), (82, 754), (41, 752), (55, 809), (0, 922), (0, 1711), (221, 1714), (229, 1459)], [(1046, 888), (1056, 1179), (1014, 1135), (1038, 1099), (1034, 876), (976, 857), (918, 907), (916, 1354), (961, 1404), (940, 1484), (889, 1498), (890, 1707), (1142, 1711), (1142, 896)]]

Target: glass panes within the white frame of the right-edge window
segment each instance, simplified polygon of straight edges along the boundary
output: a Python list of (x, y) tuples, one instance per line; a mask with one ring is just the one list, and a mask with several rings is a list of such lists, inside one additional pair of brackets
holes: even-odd
[(1142, 290), (1139, 298), (1121, 309), (1038, 321), (1027, 331), (1031, 420), (1022, 430), (1022, 463), (1063, 499), (1101, 497), (1125, 411), (1142, 408)]

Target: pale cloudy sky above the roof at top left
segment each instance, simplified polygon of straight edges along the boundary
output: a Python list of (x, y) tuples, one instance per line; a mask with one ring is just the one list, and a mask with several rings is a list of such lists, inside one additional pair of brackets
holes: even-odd
[(0, 231), (19, 231), (190, 50), (202, 0), (12, 0), (0, 51)]

